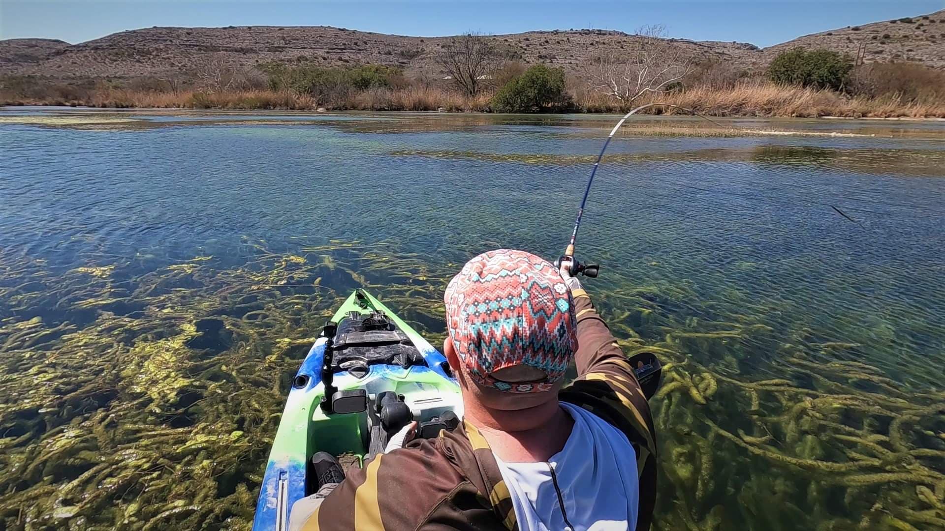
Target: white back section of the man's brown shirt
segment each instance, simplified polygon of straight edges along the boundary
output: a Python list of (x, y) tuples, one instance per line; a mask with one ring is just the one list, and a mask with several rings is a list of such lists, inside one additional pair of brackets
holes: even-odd
[(575, 426), (558, 454), (539, 463), (506, 463), (495, 458), (519, 529), (636, 528), (640, 480), (637, 455), (627, 436), (590, 411), (570, 403), (561, 407), (574, 418)]

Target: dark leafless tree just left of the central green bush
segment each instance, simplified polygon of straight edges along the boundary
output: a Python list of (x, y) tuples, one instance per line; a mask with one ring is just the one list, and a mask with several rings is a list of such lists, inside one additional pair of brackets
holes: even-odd
[(479, 94), (501, 60), (491, 39), (472, 32), (444, 43), (437, 56), (456, 87), (471, 96)]

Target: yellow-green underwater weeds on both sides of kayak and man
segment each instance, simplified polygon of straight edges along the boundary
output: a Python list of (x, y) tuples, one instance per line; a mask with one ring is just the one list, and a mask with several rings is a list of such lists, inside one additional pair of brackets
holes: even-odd
[[(443, 338), (458, 264), (342, 241), (240, 254), (66, 269), (0, 249), (0, 528), (248, 529), (290, 379), (352, 288)], [(684, 282), (589, 289), (627, 354), (665, 364), (656, 527), (945, 527), (940, 387)]]

